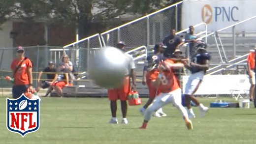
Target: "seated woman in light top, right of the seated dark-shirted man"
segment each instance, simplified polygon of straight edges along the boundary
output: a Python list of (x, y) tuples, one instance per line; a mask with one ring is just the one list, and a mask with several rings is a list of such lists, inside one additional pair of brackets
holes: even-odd
[[(73, 64), (72, 64), (71, 61), (69, 61), (69, 58), (68, 58), (68, 56), (67, 56), (66, 54), (64, 54), (64, 55), (62, 56), (62, 62), (60, 63), (60, 67), (61, 67), (62, 65), (64, 65), (65, 68), (66, 68), (66, 70), (67, 70), (67, 73), (68, 73), (68, 75), (69, 75), (69, 77), (70, 77), (70, 79), (69, 79), (69, 85), (72, 86), (72, 85), (73, 85), (72, 80), (74, 79), (74, 76), (73, 76), (73, 74), (71, 73), (72, 70), (73, 70)], [(60, 69), (60, 67), (59, 67), (59, 69)]]

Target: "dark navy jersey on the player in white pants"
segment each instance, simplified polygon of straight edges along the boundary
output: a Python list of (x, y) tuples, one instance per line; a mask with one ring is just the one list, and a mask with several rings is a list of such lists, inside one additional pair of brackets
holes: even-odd
[[(211, 56), (209, 53), (199, 53), (199, 54), (195, 54), (193, 57), (192, 57), (192, 62), (193, 63), (196, 63), (196, 64), (205, 64), (204, 61), (205, 60), (210, 60), (211, 59)], [(197, 67), (192, 67), (190, 69), (191, 73), (197, 73), (199, 71), (203, 71), (202, 69), (199, 69)]]

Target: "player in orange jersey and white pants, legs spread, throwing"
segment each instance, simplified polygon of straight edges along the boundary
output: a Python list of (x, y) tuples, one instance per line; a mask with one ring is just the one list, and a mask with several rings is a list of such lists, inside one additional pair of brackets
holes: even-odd
[[(182, 114), (188, 129), (192, 129), (192, 121), (189, 119), (186, 109), (181, 103), (181, 89), (176, 81), (176, 77), (171, 68), (182, 68), (182, 63), (174, 63), (170, 59), (160, 55), (152, 57), (151, 69), (149, 69), (152, 85), (160, 90), (160, 94), (154, 99), (153, 103), (146, 109), (144, 121), (140, 129), (145, 129), (154, 111), (167, 104), (173, 104)], [(149, 65), (149, 66), (150, 66)]]

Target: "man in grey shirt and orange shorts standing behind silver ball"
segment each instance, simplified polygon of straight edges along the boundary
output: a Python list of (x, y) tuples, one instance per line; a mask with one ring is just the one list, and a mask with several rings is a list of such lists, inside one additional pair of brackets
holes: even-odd
[[(125, 49), (125, 42), (119, 41), (117, 43), (117, 48), (124, 51)], [(126, 118), (127, 115), (127, 95), (130, 91), (130, 77), (132, 79), (132, 87), (135, 88), (136, 86), (136, 75), (135, 75), (135, 63), (133, 61), (133, 58), (125, 54), (128, 58), (128, 65), (127, 65), (127, 72), (126, 77), (124, 79), (124, 83), (119, 88), (114, 89), (108, 89), (108, 98), (110, 100), (110, 109), (112, 118), (110, 119), (109, 123), (118, 123), (116, 113), (117, 113), (117, 100), (120, 99), (121, 101), (121, 110), (122, 110), (122, 124), (128, 124), (128, 120)]]

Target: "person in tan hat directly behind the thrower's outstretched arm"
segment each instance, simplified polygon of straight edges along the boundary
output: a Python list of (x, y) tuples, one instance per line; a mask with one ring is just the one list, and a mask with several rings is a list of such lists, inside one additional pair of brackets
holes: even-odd
[[(182, 56), (182, 52), (179, 49), (176, 49), (175, 52), (173, 53), (173, 56), (171, 58), (172, 60), (175, 61), (175, 63), (182, 63), (185, 57)], [(173, 69), (173, 72), (177, 78), (178, 84), (181, 87), (181, 82), (182, 82), (182, 75), (185, 73), (184, 68), (183, 69)]]

